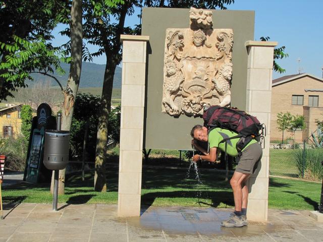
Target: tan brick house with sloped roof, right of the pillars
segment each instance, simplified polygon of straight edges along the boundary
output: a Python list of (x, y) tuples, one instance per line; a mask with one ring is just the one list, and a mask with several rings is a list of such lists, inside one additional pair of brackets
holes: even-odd
[[(303, 73), (273, 80), (271, 111), (271, 141), (282, 140), (277, 114), (290, 112), (305, 117), (306, 129), (295, 132), (295, 141), (302, 142), (316, 131), (315, 120), (323, 120), (323, 79)], [(284, 139), (292, 136), (284, 132)]]

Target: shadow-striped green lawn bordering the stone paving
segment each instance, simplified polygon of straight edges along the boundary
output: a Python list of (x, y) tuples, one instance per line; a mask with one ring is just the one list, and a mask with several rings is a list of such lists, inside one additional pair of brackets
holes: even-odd
[[(93, 192), (93, 172), (87, 172), (85, 181), (80, 174), (68, 177), (65, 195), (59, 195), (59, 203), (116, 204), (118, 199), (118, 167), (108, 169), (107, 193)], [(187, 169), (165, 167), (144, 168), (142, 173), (142, 204), (148, 206), (212, 206), (232, 207), (233, 195), (224, 173), (210, 169), (200, 170), (202, 184), (198, 184), (193, 169), (186, 178)], [(320, 199), (320, 183), (271, 177), (269, 208), (317, 209)], [(49, 186), (22, 185), (4, 188), (4, 202), (52, 203)]]

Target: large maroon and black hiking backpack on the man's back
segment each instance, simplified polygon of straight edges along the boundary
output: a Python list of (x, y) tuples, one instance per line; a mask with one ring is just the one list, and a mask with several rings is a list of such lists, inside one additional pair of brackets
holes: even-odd
[[(234, 107), (210, 106), (203, 113), (204, 126), (208, 133), (214, 128), (222, 128), (238, 133), (237, 136), (226, 138), (221, 143), (230, 139), (240, 138), (236, 149), (239, 152), (252, 140), (262, 142), (265, 136), (265, 125), (245, 111)], [(227, 142), (226, 142), (227, 148)]]

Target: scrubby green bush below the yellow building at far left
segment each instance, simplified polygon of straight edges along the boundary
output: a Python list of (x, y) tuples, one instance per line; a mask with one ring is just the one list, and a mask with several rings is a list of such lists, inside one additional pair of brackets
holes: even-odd
[(6, 155), (5, 168), (22, 171), (25, 168), (28, 141), (23, 136), (2, 139), (0, 141), (0, 154)]

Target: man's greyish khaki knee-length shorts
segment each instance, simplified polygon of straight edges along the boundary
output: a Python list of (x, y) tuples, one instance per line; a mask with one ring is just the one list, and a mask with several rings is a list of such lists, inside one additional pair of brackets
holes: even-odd
[(249, 145), (238, 155), (238, 158), (236, 158), (236, 160), (239, 160), (236, 171), (253, 174), (258, 166), (261, 157), (262, 149), (260, 144), (254, 143), (252, 145)]

